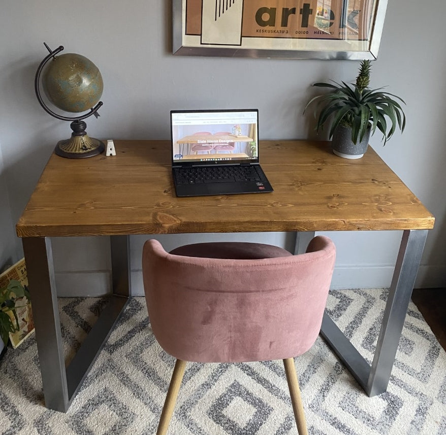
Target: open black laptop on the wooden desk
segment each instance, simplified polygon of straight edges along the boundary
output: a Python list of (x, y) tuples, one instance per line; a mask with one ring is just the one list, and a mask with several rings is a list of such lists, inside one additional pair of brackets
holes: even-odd
[(267, 193), (257, 109), (171, 111), (176, 195)]

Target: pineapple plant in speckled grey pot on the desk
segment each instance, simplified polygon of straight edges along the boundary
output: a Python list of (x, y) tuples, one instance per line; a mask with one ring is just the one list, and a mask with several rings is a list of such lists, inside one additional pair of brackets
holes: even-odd
[(394, 94), (383, 92), (383, 88), (370, 89), (370, 68), (370, 60), (361, 62), (356, 83), (315, 83), (313, 86), (329, 88), (331, 92), (311, 98), (305, 106), (304, 114), (308, 106), (315, 105), (317, 132), (331, 121), (329, 138), (333, 153), (340, 157), (361, 158), (376, 128), (383, 133), (384, 144), (397, 126), (401, 133), (404, 131), (406, 117), (397, 99), (405, 102)]

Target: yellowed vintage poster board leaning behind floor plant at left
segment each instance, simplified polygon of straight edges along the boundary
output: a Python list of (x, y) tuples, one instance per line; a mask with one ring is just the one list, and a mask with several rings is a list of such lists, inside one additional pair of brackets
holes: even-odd
[[(19, 281), (23, 286), (28, 285), (25, 259), (20, 260), (14, 266), (11, 266), (0, 274), (0, 287), (6, 287), (11, 280)], [(16, 300), (15, 306), (17, 317), (19, 319), (19, 330), (14, 334), (9, 333), (9, 339), (11, 340), (14, 349), (34, 332), (31, 304), (27, 303), (26, 298), (20, 298)], [(14, 321), (13, 314), (8, 314)]]

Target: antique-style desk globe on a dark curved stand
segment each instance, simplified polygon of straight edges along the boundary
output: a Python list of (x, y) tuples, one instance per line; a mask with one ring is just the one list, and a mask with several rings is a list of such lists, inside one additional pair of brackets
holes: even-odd
[[(73, 130), (70, 139), (57, 142), (55, 153), (70, 159), (102, 153), (105, 150), (104, 143), (88, 137), (85, 131), (87, 125), (83, 121), (91, 115), (97, 118), (99, 107), (103, 104), (99, 100), (104, 84), (98, 67), (80, 54), (67, 53), (56, 56), (63, 50), (62, 46), (54, 51), (51, 51), (47, 44), (45, 47), (49, 55), (39, 65), (34, 83), (37, 99), (51, 116), (63, 121), (72, 121), (70, 127)], [(47, 62), (49, 64), (46, 66)], [(43, 101), (40, 84), (48, 100), (60, 110), (72, 113), (88, 111), (88, 113), (74, 117), (56, 114)]]

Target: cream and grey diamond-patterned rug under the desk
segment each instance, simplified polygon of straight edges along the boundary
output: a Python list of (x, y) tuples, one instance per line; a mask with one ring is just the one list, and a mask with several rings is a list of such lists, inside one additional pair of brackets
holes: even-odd
[[(330, 293), (330, 315), (369, 362), (386, 296), (385, 289)], [(59, 304), (70, 360), (104, 302)], [(44, 407), (30, 337), (0, 361), (0, 433), (154, 434), (173, 366), (151, 334), (144, 299), (133, 298), (63, 414)], [(412, 303), (386, 393), (368, 397), (321, 338), (296, 367), (312, 435), (446, 433), (446, 354)], [(189, 364), (169, 434), (297, 434), (281, 361)]]

